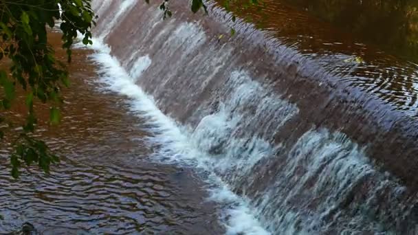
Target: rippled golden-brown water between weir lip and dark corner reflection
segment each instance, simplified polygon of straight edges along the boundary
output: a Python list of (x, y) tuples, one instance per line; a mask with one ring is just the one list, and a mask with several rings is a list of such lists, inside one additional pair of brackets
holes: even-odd
[[(319, 1), (298, 2), (314, 5)], [(323, 2), (326, 2), (324, 5), (334, 3), (338, 5), (338, 3), (346, 1)], [(245, 21), (255, 23), (257, 27), (265, 30), (266, 34), (276, 41), (272, 46), (272, 53), (280, 55), (283, 45), (294, 48), (298, 53), (303, 54), (304, 58), (298, 61), (300, 63), (298, 72), (313, 69), (312, 64), (304, 65), (305, 59), (309, 58), (314, 61), (314, 65), (320, 65), (324, 69), (323, 74), (318, 76), (329, 78), (329, 80), (347, 87), (357, 87), (361, 91), (373, 94), (385, 103), (391, 104), (394, 110), (399, 110), (406, 115), (417, 116), (418, 65), (415, 62), (415, 57), (413, 60), (406, 59), (393, 53), (393, 50), (382, 50), (381, 48), (386, 47), (377, 45), (384, 43), (384, 40), (375, 41), (375, 44), (365, 44), (362, 37), (348, 33), (347, 29), (342, 30), (341, 25), (336, 27), (336, 25), (321, 21), (306, 10), (295, 8), (286, 1), (265, 0), (263, 3), (266, 6), (261, 10), (249, 8), (238, 14)], [(349, 5), (348, 2), (347, 5)], [(322, 6), (318, 8), (325, 9)], [(367, 12), (367, 7), (364, 6), (362, 10)], [(332, 16), (332, 13), (335, 13), (327, 9), (324, 11), (329, 12)], [(236, 12), (239, 11), (236, 10)], [(369, 18), (362, 18), (356, 12), (349, 13), (347, 13), (349, 15), (345, 15), (346, 21), (365, 21), (363, 23), (366, 25), (375, 25)], [(338, 14), (336, 13), (335, 16), (337, 18)], [(395, 16), (388, 19), (396, 20)], [(380, 23), (385, 24), (385, 22)], [(237, 30), (241, 27), (239, 23), (234, 25)], [(349, 27), (348, 24), (344, 24), (344, 26)], [(413, 27), (413, 24), (410, 27)], [(395, 28), (398, 30), (397, 26)], [(399, 29), (399, 31), (401, 30)], [(374, 30), (369, 31), (374, 32)], [(383, 37), (388, 34), (386, 38), (396, 37), (396, 34), (393, 35), (390, 32), (380, 33)], [(373, 35), (375, 36), (375, 34)], [(404, 41), (401, 43), (407, 45)], [(399, 52), (401, 52), (400, 49)]]

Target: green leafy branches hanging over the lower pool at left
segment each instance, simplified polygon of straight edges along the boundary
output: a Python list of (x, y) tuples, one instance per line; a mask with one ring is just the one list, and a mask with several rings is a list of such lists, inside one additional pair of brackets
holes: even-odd
[(0, 60), (11, 63), (8, 69), (0, 70), (0, 137), (8, 130), (5, 112), (18, 89), (25, 92), (28, 109), (20, 133), (13, 133), (18, 137), (12, 142), (12, 175), (18, 177), (19, 167), (31, 164), (49, 172), (58, 157), (44, 142), (32, 137), (37, 122), (34, 101), (50, 104), (50, 123), (58, 124), (60, 91), (69, 81), (65, 65), (56, 60), (48, 44), (47, 28), (59, 22), (63, 48), (71, 61), (71, 47), (78, 33), (83, 35), (84, 44), (91, 44), (95, 21), (90, 0), (0, 0), (0, 17)]

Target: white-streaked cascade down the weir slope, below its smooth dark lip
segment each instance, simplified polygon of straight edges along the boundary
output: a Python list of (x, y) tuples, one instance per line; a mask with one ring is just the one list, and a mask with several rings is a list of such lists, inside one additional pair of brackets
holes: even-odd
[[(418, 232), (416, 194), (377, 167), (368, 152), (375, 147), (355, 144), (362, 133), (309, 118), (307, 104), (316, 100), (306, 88), (292, 89), (297, 67), (265, 62), (272, 70), (261, 71), (269, 59), (248, 56), (259, 47), (221, 41), (211, 30), (228, 29), (216, 17), (201, 20), (178, 4), (162, 21), (155, 5), (94, 1), (100, 19), (92, 58), (107, 88), (147, 120), (155, 159), (207, 175), (229, 234)], [(269, 81), (277, 74), (294, 80), (276, 89), (283, 82)], [(338, 113), (329, 99), (316, 108)]]

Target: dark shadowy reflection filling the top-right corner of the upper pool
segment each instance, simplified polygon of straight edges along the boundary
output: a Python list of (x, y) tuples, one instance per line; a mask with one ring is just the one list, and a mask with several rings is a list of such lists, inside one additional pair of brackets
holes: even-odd
[(417, 1), (293, 0), (289, 3), (370, 43), (417, 61)]

